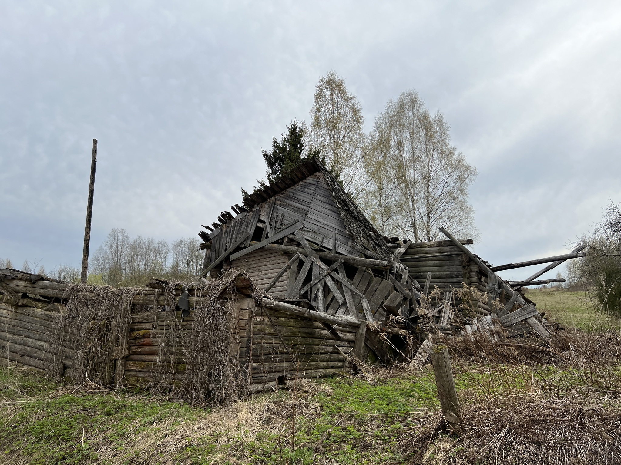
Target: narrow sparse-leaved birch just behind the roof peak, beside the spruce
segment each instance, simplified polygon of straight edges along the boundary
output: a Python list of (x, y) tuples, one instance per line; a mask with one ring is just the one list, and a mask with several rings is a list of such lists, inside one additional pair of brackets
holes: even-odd
[(312, 144), (353, 197), (359, 190), (356, 180), (365, 139), (364, 123), (358, 99), (350, 94), (337, 73), (330, 71), (319, 79), (311, 109)]

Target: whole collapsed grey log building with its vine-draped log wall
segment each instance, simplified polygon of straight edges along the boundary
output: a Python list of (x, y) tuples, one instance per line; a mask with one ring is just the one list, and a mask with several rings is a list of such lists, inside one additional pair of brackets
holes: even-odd
[[(0, 350), (98, 386), (145, 385), (227, 402), (361, 363), (422, 366), (430, 336), (536, 337), (552, 327), (523, 293), (572, 254), (492, 267), (445, 241), (383, 237), (319, 161), (255, 190), (199, 232), (194, 283), (73, 285), (0, 270)], [(525, 281), (496, 271), (550, 263)]]

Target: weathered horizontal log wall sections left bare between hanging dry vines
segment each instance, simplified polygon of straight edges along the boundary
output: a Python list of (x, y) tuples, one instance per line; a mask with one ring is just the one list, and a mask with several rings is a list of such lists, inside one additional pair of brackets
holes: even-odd
[[(278, 255), (280, 256), (280, 255)], [(54, 337), (54, 322), (63, 308), (61, 303), (45, 303), (37, 295), (59, 296), (65, 285), (39, 281), (9, 280), (11, 288), (29, 291), (29, 298), (11, 298), (0, 294), (0, 351), (22, 365), (46, 371), (55, 371), (50, 354)], [(168, 353), (179, 355), (171, 360), (170, 381), (183, 379), (185, 360), (181, 347), (166, 347), (170, 341), (166, 330), (171, 328), (170, 312), (153, 312), (153, 304), (163, 304), (157, 290), (144, 290), (147, 295), (134, 299), (132, 322), (129, 327), (128, 347), (117, 348), (119, 357), (112, 369), (116, 376), (124, 375), (130, 385), (150, 383), (156, 376), (155, 364), (162, 347)], [(191, 298), (191, 301), (193, 298)], [(249, 386), (274, 383), (287, 378), (316, 378), (331, 376), (350, 369), (347, 354), (353, 350), (355, 328), (332, 327), (314, 319), (295, 316), (270, 309), (271, 319), (249, 294), (237, 294), (230, 310), (233, 312), (231, 331), (237, 334), (238, 343), (230, 347), (233, 356), (239, 355), (240, 365), (247, 370)], [(181, 312), (176, 312), (176, 318)], [(181, 337), (190, 337), (193, 311), (181, 323)], [(338, 336), (335, 336), (337, 332)], [(65, 374), (70, 374), (71, 360), (75, 353), (71, 347), (63, 348)], [(345, 355), (345, 356), (344, 356)], [(119, 365), (120, 364), (120, 365)], [(252, 391), (252, 389), (251, 389)]]

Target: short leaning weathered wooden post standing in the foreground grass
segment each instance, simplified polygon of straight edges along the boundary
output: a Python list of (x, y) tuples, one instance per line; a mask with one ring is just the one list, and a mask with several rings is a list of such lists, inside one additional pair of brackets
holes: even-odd
[(451, 359), (445, 345), (435, 344), (431, 349), (431, 362), (438, 397), (442, 406), (442, 417), (450, 428), (458, 428), (461, 424), (460, 403), (455, 389), (455, 379), (451, 370)]

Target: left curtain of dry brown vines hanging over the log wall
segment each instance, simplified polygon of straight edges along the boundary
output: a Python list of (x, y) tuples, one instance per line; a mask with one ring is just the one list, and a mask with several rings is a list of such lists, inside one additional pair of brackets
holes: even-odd
[[(75, 350), (71, 365), (73, 382), (109, 385), (115, 348), (127, 345), (132, 299), (138, 291), (138, 288), (69, 285), (63, 295), (66, 311), (57, 320), (50, 344), (54, 366), (62, 371), (62, 348), (72, 347)], [(116, 382), (120, 384), (120, 379)]]

